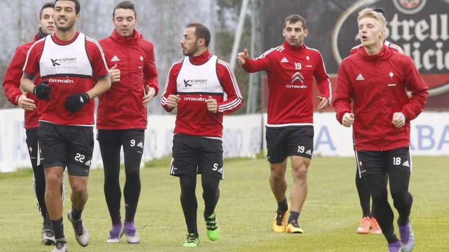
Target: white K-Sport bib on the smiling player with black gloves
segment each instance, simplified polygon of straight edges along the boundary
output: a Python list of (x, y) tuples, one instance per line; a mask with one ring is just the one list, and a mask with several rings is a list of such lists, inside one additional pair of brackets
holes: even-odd
[(87, 57), (86, 36), (82, 33), (73, 42), (60, 45), (53, 41), (55, 34), (45, 37), (39, 60), (42, 78), (57, 76), (92, 77), (92, 66)]

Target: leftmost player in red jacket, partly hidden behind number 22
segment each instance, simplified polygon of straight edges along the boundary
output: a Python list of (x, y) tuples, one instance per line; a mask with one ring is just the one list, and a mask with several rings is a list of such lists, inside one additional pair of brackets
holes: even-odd
[[(28, 43), (22, 44), (17, 47), (14, 56), (11, 60), (11, 64), (5, 73), (3, 79), (3, 87), (8, 100), (16, 106), (19, 106), (25, 110), (24, 127), (27, 134), (27, 147), (30, 154), (31, 166), (33, 168), (33, 186), (34, 192), (37, 198), (37, 205), (40, 210), (43, 219), (43, 227), (41, 231), (42, 243), (45, 245), (55, 244), (55, 234), (53, 233), (52, 223), (48, 216), (47, 207), (45, 206), (45, 175), (42, 165), (37, 165), (37, 126), (38, 126), (38, 114), (36, 105), (38, 100), (36, 97), (27, 92), (20, 91), (20, 78), (22, 77), (22, 67), (27, 57), (28, 49), (31, 45), (39, 39), (53, 33), (55, 30), (55, 23), (53, 21), (53, 3), (46, 3), (42, 6), (39, 12), (39, 30), (34, 36), (34, 40)], [(37, 74), (35, 83), (39, 83), (40, 78)], [(62, 200), (64, 199), (64, 193), (62, 192)]]

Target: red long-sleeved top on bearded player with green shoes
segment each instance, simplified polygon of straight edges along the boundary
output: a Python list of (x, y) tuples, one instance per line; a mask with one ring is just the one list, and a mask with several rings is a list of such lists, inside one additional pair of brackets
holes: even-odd
[[(215, 62), (209, 62), (214, 59)], [(215, 77), (218, 78), (218, 88), (222, 89), (222, 92), (195, 92), (195, 89), (197, 88), (205, 90), (205, 87), (202, 87), (202, 85), (206, 82), (195, 82), (198, 77), (194, 71), (189, 71), (187, 73), (190, 75), (187, 79), (181, 79), (182, 77), (179, 78), (181, 68), (184, 65), (183, 61), (189, 61), (189, 66), (193, 69), (199, 68), (208, 62), (211, 63), (212, 67), (207, 69), (207, 72), (213, 73), (211, 75), (215, 75)], [(216, 72), (216, 74), (214, 72)], [(193, 90), (180, 92), (181, 88), (184, 88), (184, 84), (185, 88), (192, 88)], [(217, 87), (214, 89), (216, 88)], [(183, 60), (175, 62), (171, 66), (165, 91), (161, 97), (161, 104), (168, 112), (172, 110), (167, 106), (167, 98), (170, 94), (180, 95), (181, 98), (177, 107), (178, 111), (173, 132), (186, 135), (221, 138), (223, 131), (223, 115), (231, 114), (243, 105), (243, 97), (240, 94), (234, 71), (231, 66), (214, 57), (209, 51), (206, 51), (197, 57), (186, 57)], [(224, 94), (227, 94), (227, 100), (223, 99)], [(205, 100), (208, 99), (209, 96), (217, 100), (218, 111), (215, 114), (207, 109)]]

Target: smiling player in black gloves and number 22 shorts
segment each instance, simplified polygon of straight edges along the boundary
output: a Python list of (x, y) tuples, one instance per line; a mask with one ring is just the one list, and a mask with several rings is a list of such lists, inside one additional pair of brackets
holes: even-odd
[[(87, 201), (87, 179), (93, 152), (93, 98), (111, 86), (103, 50), (77, 32), (78, 0), (56, 0), (56, 31), (35, 42), (23, 66), (21, 87), (39, 101), (38, 164), (45, 171), (45, 204), (55, 232), (53, 252), (67, 251), (62, 222), (61, 183), (67, 166), (72, 209), (67, 217), (82, 246), (89, 233), (81, 219)], [(42, 81), (33, 84), (40, 73)], [(93, 79), (98, 82), (93, 86)]]

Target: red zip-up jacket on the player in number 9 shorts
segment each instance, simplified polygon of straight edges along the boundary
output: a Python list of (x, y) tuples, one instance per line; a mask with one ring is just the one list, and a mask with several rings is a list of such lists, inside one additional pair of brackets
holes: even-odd
[(146, 129), (147, 111), (142, 104), (144, 88), (149, 86), (158, 94), (158, 70), (154, 46), (134, 30), (124, 38), (115, 29), (98, 43), (105, 52), (108, 68), (117, 64), (120, 81), (98, 97), (97, 129)]

